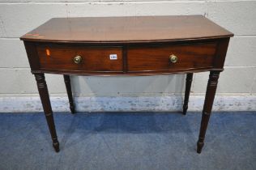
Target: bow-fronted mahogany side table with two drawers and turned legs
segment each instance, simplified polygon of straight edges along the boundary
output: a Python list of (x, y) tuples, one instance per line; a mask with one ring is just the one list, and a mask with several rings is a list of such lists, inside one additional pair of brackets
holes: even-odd
[(75, 113), (70, 74), (186, 74), (186, 114), (195, 72), (210, 71), (197, 142), (201, 153), (229, 38), (202, 15), (53, 18), (20, 37), (44, 108), (55, 151), (59, 142), (45, 73), (63, 74), (71, 113)]

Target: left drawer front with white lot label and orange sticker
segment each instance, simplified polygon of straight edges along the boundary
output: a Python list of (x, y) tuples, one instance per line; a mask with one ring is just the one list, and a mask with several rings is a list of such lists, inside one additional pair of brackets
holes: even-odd
[(37, 53), (43, 70), (122, 71), (121, 47), (38, 45)]

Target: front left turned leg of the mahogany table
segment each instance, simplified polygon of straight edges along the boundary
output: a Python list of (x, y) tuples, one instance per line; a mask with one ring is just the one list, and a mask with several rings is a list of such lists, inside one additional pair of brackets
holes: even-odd
[(50, 132), (52, 140), (53, 140), (53, 147), (54, 147), (55, 151), (58, 152), (59, 151), (59, 142), (58, 142), (58, 137), (57, 137), (56, 130), (55, 130), (53, 111), (52, 111), (51, 103), (49, 100), (49, 92), (48, 92), (47, 85), (45, 82), (45, 74), (36, 73), (35, 77), (36, 77), (36, 83), (37, 83), (37, 88), (38, 88), (39, 95), (41, 98), (41, 102), (42, 102), (42, 105), (44, 108), (46, 121), (47, 121), (47, 124), (49, 127), (49, 132)]

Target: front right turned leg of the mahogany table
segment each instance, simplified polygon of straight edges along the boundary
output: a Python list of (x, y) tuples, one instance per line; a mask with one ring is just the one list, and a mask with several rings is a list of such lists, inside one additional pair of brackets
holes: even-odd
[(215, 91), (218, 84), (220, 71), (211, 71), (209, 75), (209, 80), (207, 84), (207, 93), (205, 96), (204, 104), (203, 104), (203, 113), (202, 113), (202, 120), (201, 120), (201, 127), (200, 127), (200, 133), (198, 138), (198, 148), (197, 152), (198, 154), (201, 153), (203, 144), (204, 144), (204, 138), (207, 131), (207, 125), (211, 116), (211, 108), (215, 97)]

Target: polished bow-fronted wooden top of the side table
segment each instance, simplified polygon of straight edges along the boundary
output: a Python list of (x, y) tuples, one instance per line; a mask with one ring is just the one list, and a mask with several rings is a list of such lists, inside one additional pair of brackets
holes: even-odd
[(233, 36), (203, 15), (53, 18), (21, 40), (129, 43)]

